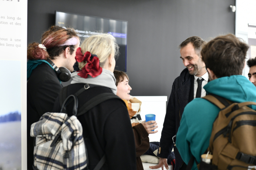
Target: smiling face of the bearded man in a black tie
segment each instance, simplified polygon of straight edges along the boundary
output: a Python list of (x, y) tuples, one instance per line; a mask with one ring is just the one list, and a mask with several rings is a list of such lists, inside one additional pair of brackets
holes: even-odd
[(205, 64), (196, 54), (191, 42), (180, 48), (180, 55), (184, 66), (189, 70), (189, 74), (201, 77), (206, 73)]

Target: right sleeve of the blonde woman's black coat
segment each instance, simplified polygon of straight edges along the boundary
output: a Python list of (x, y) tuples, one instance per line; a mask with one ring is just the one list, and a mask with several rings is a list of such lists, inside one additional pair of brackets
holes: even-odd
[(127, 108), (113, 111), (104, 126), (106, 157), (110, 170), (136, 170), (134, 133)]

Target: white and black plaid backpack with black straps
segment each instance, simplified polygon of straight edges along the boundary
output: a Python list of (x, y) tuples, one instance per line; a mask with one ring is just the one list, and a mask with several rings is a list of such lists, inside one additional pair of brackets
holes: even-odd
[[(67, 86), (61, 89), (61, 113), (44, 113), (38, 122), (31, 125), (30, 136), (35, 137), (34, 170), (87, 170), (88, 160), (82, 125), (76, 116), (89, 111), (108, 99), (120, 99), (113, 93), (99, 94), (78, 110), (82, 92), (98, 85), (84, 85), (76, 94), (67, 97)], [(121, 100), (121, 99), (120, 99)], [(64, 102), (63, 102), (64, 101)], [(73, 115), (66, 113), (66, 106), (74, 101)], [(94, 170), (99, 170), (106, 161), (104, 155)]]

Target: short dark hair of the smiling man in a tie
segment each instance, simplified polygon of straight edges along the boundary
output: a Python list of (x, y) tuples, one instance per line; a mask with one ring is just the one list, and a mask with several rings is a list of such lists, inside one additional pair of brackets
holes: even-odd
[(189, 44), (189, 42), (192, 43), (195, 49), (195, 53), (198, 55), (198, 57), (200, 57), (200, 51), (202, 50), (202, 47), (205, 44), (205, 41), (197, 36), (189, 37), (185, 41), (181, 42), (181, 44), (179, 45), (179, 48), (181, 49), (185, 47), (186, 45)]

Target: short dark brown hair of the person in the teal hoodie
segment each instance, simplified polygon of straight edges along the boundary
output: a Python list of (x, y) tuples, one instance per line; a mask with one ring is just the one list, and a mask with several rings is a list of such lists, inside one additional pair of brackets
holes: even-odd
[(217, 78), (241, 75), (248, 48), (233, 34), (218, 36), (204, 45), (202, 60)]

